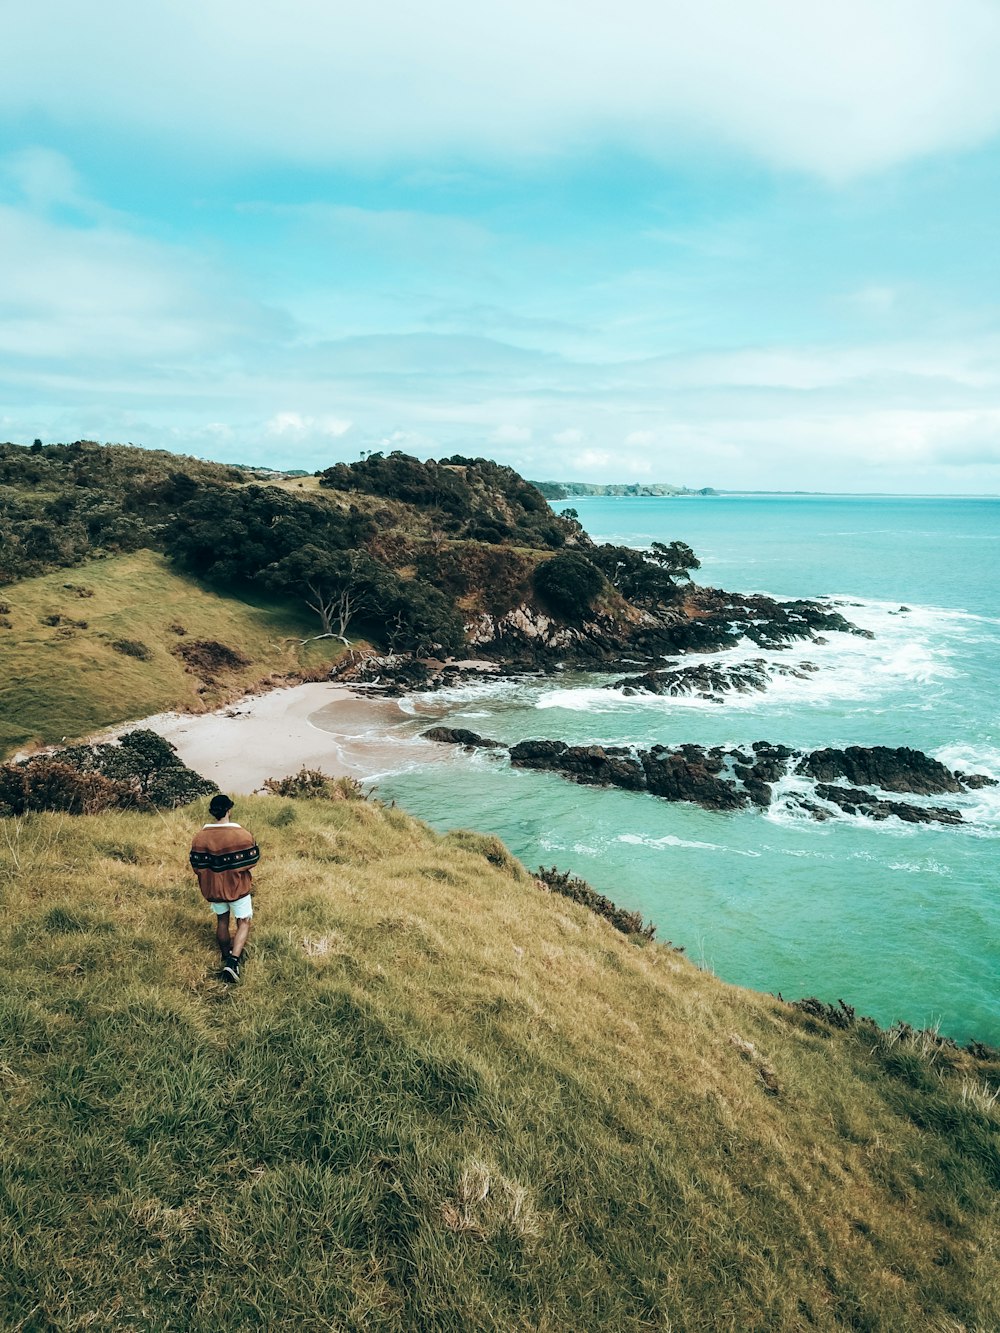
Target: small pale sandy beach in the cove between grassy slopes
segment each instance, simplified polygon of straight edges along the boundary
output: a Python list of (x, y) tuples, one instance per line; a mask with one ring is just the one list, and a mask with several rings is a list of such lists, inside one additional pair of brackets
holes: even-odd
[(425, 762), (432, 745), (389, 734), (404, 717), (393, 698), (357, 698), (344, 685), (321, 682), (251, 694), (215, 713), (157, 713), (115, 734), (147, 726), (221, 790), (245, 794), (303, 766), (365, 780)]

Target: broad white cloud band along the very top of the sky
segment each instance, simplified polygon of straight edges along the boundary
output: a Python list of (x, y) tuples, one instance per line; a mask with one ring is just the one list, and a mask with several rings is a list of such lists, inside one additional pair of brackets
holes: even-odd
[(8, 8), (0, 109), (125, 123), (216, 160), (429, 167), (721, 141), (843, 179), (1000, 124), (992, 0)]

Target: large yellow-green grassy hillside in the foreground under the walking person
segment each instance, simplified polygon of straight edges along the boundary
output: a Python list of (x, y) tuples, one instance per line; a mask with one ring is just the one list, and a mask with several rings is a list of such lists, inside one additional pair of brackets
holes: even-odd
[(200, 809), (0, 825), (4, 1329), (1000, 1325), (995, 1065), (725, 986), (493, 838), (237, 814), (232, 990)]

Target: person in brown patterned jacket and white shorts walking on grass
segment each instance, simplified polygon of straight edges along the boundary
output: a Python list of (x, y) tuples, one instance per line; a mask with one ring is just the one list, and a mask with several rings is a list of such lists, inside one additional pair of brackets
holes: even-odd
[[(251, 866), (260, 860), (253, 834), (229, 817), (233, 802), (219, 792), (208, 802), (212, 824), (203, 825), (191, 844), (191, 868), (201, 896), (216, 916), (215, 937), (223, 956), (223, 980), (240, 980), (240, 960), (253, 920), (253, 876)], [(229, 913), (236, 933), (229, 933)]]

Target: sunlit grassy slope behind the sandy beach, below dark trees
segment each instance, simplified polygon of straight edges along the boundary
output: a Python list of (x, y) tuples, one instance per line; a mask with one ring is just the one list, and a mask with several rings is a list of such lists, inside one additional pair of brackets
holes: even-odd
[[(316, 619), (288, 599), (211, 592), (151, 551), (27, 579), (0, 599), (9, 608), (0, 617), (0, 757), (167, 708), (215, 706), (272, 672), (308, 670), (343, 651), (336, 640), (301, 648)], [(245, 665), (180, 656), (205, 641)], [(131, 651), (148, 656), (115, 647), (136, 643)]]

